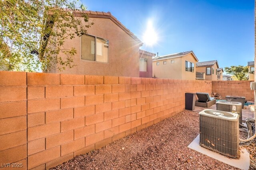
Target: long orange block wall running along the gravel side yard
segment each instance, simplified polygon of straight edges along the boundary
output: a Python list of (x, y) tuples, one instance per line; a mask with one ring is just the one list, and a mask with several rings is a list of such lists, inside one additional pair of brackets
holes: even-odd
[(184, 110), (207, 82), (0, 72), (0, 163), (51, 168)]

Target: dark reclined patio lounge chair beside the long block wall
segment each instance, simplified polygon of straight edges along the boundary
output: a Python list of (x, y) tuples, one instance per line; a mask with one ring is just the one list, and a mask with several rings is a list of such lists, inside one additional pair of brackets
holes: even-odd
[(216, 99), (211, 98), (208, 93), (198, 92), (196, 96), (198, 97), (198, 101), (195, 102), (195, 106), (208, 108), (216, 104)]

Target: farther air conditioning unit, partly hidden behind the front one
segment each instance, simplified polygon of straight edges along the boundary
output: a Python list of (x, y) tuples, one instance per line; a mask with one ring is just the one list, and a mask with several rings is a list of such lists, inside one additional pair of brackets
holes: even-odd
[(228, 111), (228, 112), (239, 114), (239, 123), (242, 124), (242, 103), (218, 101), (216, 102), (216, 110)]

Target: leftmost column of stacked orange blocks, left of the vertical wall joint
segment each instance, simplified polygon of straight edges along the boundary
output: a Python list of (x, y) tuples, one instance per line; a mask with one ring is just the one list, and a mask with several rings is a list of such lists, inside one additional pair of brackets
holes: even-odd
[(26, 72), (0, 72), (0, 164), (27, 167)]

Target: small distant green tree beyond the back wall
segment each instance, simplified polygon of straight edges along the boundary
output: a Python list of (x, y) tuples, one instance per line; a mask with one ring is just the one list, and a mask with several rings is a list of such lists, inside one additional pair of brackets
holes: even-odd
[(247, 66), (230, 66), (224, 68), (225, 72), (236, 76), (238, 80), (248, 80), (248, 67)]

